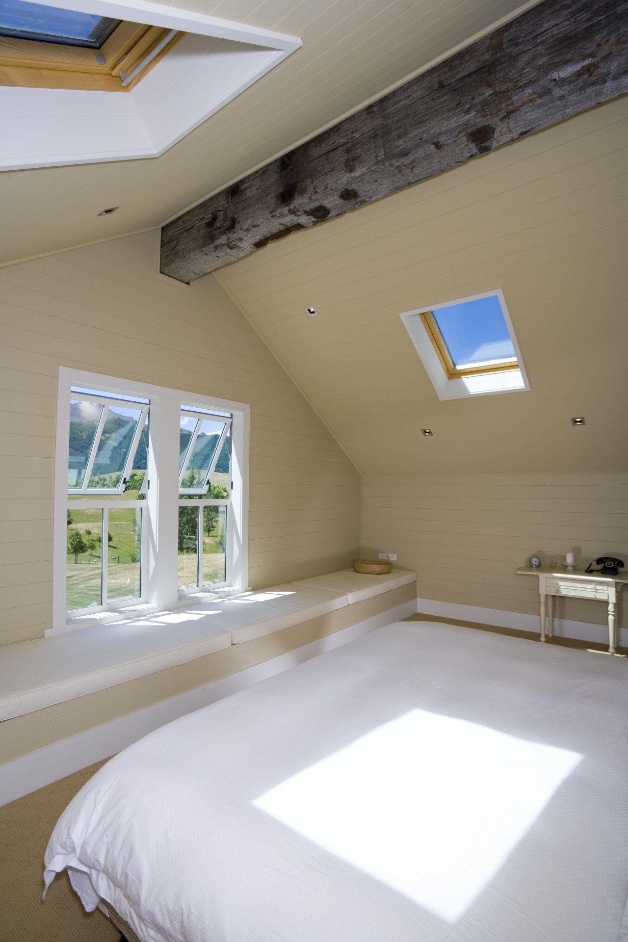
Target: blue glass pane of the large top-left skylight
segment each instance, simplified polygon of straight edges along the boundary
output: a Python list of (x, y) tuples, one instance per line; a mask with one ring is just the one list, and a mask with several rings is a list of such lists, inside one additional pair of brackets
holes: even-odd
[(0, 36), (18, 40), (100, 49), (120, 22), (90, 13), (24, 3), (23, 0), (0, 0)]

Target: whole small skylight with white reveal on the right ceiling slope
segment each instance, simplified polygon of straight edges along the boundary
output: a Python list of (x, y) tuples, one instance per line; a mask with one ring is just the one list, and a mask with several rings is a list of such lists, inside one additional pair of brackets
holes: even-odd
[(501, 290), (400, 317), (439, 398), (530, 388)]

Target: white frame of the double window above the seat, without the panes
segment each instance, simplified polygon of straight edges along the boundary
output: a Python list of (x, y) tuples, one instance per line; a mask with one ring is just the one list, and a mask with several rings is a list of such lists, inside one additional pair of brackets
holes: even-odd
[[(150, 447), (146, 474), (146, 479), (151, 483), (146, 500), (141, 502), (142, 507), (146, 508), (146, 512), (142, 513), (145, 521), (142, 554), (146, 553), (146, 559), (142, 559), (143, 600), (120, 603), (115, 609), (83, 610), (78, 615), (69, 613), (66, 609), (69, 407), (71, 395), (74, 398), (79, 396), (79, 394), (72, 394), (72, 386), (98, 390), (105, 394), (113, 393), (121, 397), (147, 398), (151, 403)], [(83, 398), (84, 394), (81, 393), (80, 396)], [(170, 389), (167, 386), (123, 380), (119, 377), (60, 366), (57, 384), (53, 521), (53, 626), (45, 632), (46, 635), (60, 634), (121, 619), (128, 620), (132, 617), (142, 617), (152, 611), (189, 605), (190, 596), (194, 593), (203, 597), (219, 588), (219, 586), (199, 587), (185, 592), (180, 592), (178, 588), (179, 437), (182, 408), (233, 416), (231, 421), (232, 495), (231, 500), (228, 501), (230, 511), (227, 519), (227, 552), (230, 554), (228, 571), (231, 571), (232, 578), (227, 591), (242, 592), (248, 588), (249, 404), (201, 396), (190, 393), (189, 390)], [(219, 454), (218, 450), (217, 454)], [(215, 457), (217, 460), (217, 455)], [(87, 493), (96, 496), (94, 490)], [(112, 495), (114, 492), (108, 490), (104, 493)], [(77, 493), (76, 496), (79, 494)], [(211, 502), (221, 503), (222, 501)], [(97, 502), (86, 500), (85, 503), (94, 507)], [(83, 505), (83, 501), (72, 501), (72, 504), (79, 508)], [(130, 509), (130, 506), (135, 506), (135, 502), (107, 501), (109, 509), (118, 506)], [(223, 585), (223, 590), (224, 588)]]

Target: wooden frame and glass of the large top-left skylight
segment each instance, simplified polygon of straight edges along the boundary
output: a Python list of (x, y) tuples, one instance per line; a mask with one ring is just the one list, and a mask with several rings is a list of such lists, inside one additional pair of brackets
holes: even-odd
[(130, 91), (185, 32), (0, 0), (0, 86)]

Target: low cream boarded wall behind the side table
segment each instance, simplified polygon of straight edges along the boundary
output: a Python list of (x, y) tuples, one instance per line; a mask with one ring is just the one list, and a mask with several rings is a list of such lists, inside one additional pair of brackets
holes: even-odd
[[(514, 575), (530, 556), (628, 565), (628, 474), (367, 475), (362, 527), (364, 553), (416, 570), (419, 598), (537, 615), (537, 580)], [(606, 608), (559, 598), (556, 615), (605, 624)]]

